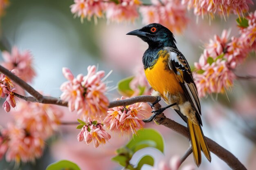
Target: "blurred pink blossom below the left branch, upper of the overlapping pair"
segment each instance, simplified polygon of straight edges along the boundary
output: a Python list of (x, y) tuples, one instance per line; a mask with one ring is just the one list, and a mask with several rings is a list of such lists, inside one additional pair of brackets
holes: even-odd
[(58, 129), (63, 116), (58, 106), (25, 101), (20, 101), (12, 114), (17, 126), (42, 139), (48, 139)]

